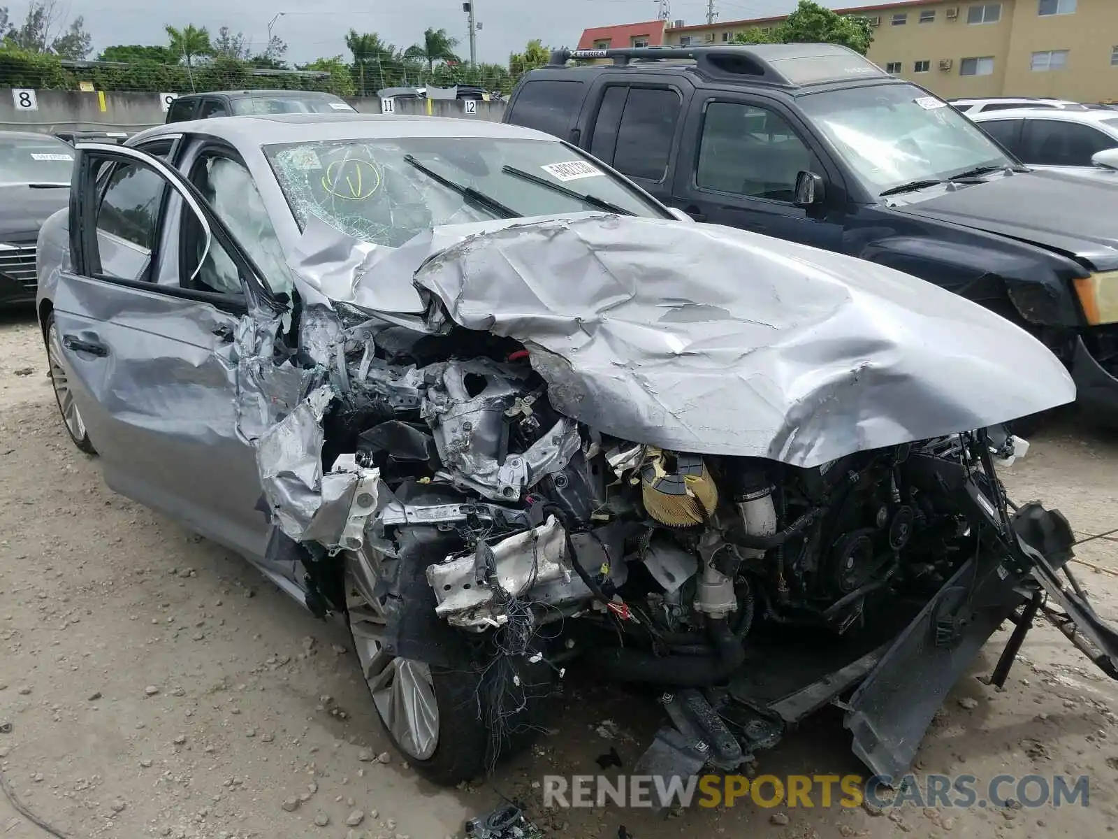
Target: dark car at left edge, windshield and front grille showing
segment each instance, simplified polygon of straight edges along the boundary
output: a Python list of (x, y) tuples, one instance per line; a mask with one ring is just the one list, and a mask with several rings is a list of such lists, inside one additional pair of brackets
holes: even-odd
[(58, 138), (0, 131), (0, 305), (35, 301), (39, 228), (69, 201), (73, 168)]

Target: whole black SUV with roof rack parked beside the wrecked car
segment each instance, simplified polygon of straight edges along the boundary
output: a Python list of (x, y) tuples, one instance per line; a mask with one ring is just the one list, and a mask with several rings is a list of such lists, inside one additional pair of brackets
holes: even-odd
[(504, 120), (588, 150), (698, 221), (860, 256), (982, 303), (1044, 341), (1080, 405), (1118, 425), (1118, 187), (1030, 170), (858, 53), (557, 50)]

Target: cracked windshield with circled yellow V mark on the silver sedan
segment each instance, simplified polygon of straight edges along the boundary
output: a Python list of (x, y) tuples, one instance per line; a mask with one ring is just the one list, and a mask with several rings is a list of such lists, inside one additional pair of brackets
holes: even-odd
[(510, 214), (558, 215), (608, 205), (628, 215), (671, 217), (591, 158), (553, 140), (330, 140), (264, 151), (301, 229), (318, 216), (354, 238), (389, 247), (434, 226)]

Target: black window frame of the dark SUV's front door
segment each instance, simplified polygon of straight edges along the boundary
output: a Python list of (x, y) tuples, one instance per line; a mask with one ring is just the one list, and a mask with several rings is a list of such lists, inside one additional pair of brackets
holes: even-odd
[[(776, 198), (764, 198), (750, 196), (742, 192), (726, 192), (699, 185), (699, 155), (702, 151), (703, 128), (707, 123), (707, 109), (712, 103), (723, 103), (740, 105), (742, 107), (757, 107), (776, 114), (792, 131), (793, 134), (804, 144), (812, 158), (819, 164), (823, 171), (816, 172), (827, 181), (826, 205), (839, 207), (845, 201), (846, 185), (842, 177), (842, 171), (834, 164), (827, 149), (817, 140), (804, 121), (781, 102), (767, 96), (759, 96), (749, 93), (736, 93), (727, 91), (698, 91), (691, 103), (688, 114), (688, 133), (685, 140), (686, 148), (681, 149), (681, 166), (686, 166), (685, 190), (688, 194), (707, 196), (708, 200), (739, 200), (739, 201), (761, 201), (769, 207), (796, 208), (793, 201), (781, 201)], [(684, 152), (686, 157), (684, 158)], [(800, 210), (802, 211), (802, 210)]]

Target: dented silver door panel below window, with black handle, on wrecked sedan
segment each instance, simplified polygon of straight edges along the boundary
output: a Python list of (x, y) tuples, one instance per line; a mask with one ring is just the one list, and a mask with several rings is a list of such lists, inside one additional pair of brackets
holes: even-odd
[(115, 491), (249, 557), (267, 525), (259, 478), (236, 434), (238, 317), (210, 303), (64, 273), (55, 320), (102, 357), (64, 346), (89, 439)]

